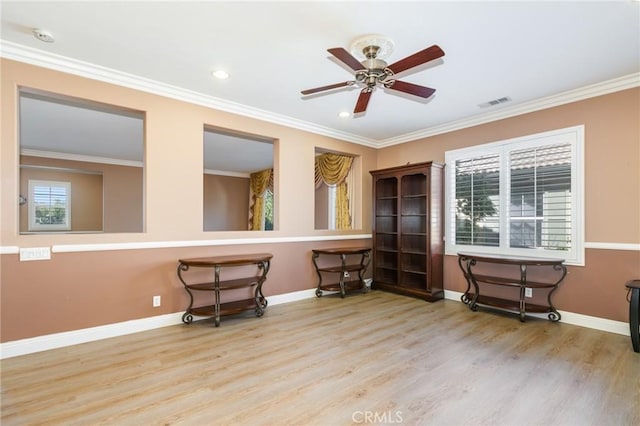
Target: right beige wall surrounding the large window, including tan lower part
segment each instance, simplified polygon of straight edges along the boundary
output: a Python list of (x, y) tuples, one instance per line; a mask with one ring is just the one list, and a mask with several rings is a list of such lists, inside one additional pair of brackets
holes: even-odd
[[(378, 168), (444, 161), (447, 150), (582, 124), (586, 242), (640, 244), (638, 88), (384, 148), (378, 152)], [(569, 267), (554, 304), (564, 311), (627, 321), (624, 283), (640, 278), (640, 252), (588, 248), (585, 257), (584, 267)], [(445, 288), (466, 288), (454, 256), (445, 257)]]

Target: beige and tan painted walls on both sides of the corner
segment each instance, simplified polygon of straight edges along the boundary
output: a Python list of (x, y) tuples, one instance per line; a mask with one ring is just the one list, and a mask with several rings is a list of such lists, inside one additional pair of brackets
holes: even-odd
[[(154, 243), (272, 237), (324, 237), (315, 230), (313, 165), (316, 148), (360, 156), (358, 229), (371, 231), (369, 171), (427, 160), (448, 149), (579, 124), (586, 132), (587, 242), (640, 243), (640, 89), (626, 90), (519, 117), (374, 150), (333, 138), (233, 115), (14, 61), (2, 60), (0, 246), (66, 247), (75, 244)], [(144, 210), (146, 232), (89, 235), (20, 235), (18, 232), (17, 88), (110, 103), (145, 112)], [(202, 128), (212, 125), (264, 135), (275, 143), (276, 230), (203, 232)], [(105, 200), (106, 203), (106, 200)], [(148, 250), (53, 253), (49, 261), (1, 256), (3, 342), (83, 329), (171, 312), (185, 307), (176, 278), (180, 257), (271, 252), (265, 293), (284, 294), (316, 285), (312, 248), (369, 245), (339, 242), (228, 244)], [(627, 320), (624, 282), (640, 277), (640, 252), (587, 249), (586, 266), (571, 267), (556, 297), (561, 310)], [(456, 259), (445, 259), (445, 288), (464, 291)], [(153, 295), (163, 305), (151, 307)]]

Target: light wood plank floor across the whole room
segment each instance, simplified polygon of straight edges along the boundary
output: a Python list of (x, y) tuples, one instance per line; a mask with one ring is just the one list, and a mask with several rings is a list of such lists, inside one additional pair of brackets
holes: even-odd
[(380, 291), (2, 361), (2, 425), (638, 425), (630, 339)]

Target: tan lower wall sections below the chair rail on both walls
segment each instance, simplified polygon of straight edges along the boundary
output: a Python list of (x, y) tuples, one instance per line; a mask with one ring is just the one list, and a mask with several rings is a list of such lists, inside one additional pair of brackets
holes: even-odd
[[(272, 253), (268, 297), (315, 288), (312, 249), (370, 244), (365, 239), (54, 253), (50, 261), (32, 262), (2, 255), (2, 342), (181, 312), (188, 299), (176, 276), (180, 258)], [(628, 321), (624, 283), (640, 278), (640, 252), (588, 249), (586, 257), (587, 267), (568, 268), (553, 298), (556, 308)], [(464, 292), (457, 258), (445, 256), (444, 266), (445, 289)], [(162, 296), (159, 308), (152, 307), (154, 295)]]

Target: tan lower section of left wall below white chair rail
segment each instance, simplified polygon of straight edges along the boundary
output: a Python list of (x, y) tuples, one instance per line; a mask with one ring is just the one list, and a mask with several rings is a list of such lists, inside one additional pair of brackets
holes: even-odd
[[(2, 255), (2, 342), (181, 312), (180, 258), (272, 253), (265, 296), (315, 288), (311, 250), (370, 240), (53, 253), (48, 261)], [(369, 270), (370, 274), (370, 270)], [(368, 275), (369, 276), (369, 275)], [(162, 305), (152, 307), (160, 295)], [(240, 297), (240, 296), (238, 296)], [(244, 297), (242, 297), (244, 298)]]

